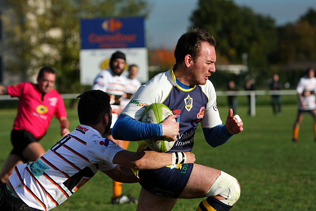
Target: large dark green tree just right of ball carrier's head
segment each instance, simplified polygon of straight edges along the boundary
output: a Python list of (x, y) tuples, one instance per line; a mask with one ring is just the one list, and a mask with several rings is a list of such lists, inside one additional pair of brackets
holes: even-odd
[(205, 29), (217, 39), (219, 62), (241, 63), (246, 52), (250, 70), (262, 70), (276, 50), (275, 21), (237, 6), (233, 0), (199, 0), (191, 21), (193, 27)]

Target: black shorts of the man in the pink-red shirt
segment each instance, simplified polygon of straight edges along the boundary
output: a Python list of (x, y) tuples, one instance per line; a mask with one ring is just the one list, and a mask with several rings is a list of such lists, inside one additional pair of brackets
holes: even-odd
[(29, 131), (13, 129), (11, 131), (11, 143), (13, 145), (11, 154), (23, 157), (22, 151), (33, 142), (38, 142), (38, 140)]

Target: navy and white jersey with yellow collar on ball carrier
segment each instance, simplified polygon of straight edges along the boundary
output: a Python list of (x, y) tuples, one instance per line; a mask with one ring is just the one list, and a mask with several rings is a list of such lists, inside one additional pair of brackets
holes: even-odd
[[(140, 121), (147, 105), (157, 102), (170, 108), (173, 114), (177, 115), (176, 121), (180, 124), (178, 140), (168, 152), (191, 151), (199, 122), (204, 128), (222, 124), (213, 84), (207, 81), (205, 85), (184, 89), (176, 84), (172, 69), (158, 74), (142, 85), (121, 114)], [(146, 146), (139, 144), (138, 150)]]

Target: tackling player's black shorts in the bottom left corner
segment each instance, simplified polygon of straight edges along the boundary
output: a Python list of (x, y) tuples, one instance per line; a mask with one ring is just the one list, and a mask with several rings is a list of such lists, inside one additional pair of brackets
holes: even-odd
[(12, 196), (5, 183), (0, 185), (0, 210), (1, 211), (40, 211), (27, 206), (21, 199)]

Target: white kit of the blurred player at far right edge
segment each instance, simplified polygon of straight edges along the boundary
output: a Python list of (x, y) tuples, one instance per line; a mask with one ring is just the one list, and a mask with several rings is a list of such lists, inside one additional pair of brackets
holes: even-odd
[(300, 79), (300, 82), (297, 85), (296, 88), (297, 93), (302, 94), (303, 98), (302, 101), (305, 104), (305, 107), (301, 105), (300, 102), (298, 102), (299, 110), (314, 110), (316, 109), (316, 78), (308, 78), (307, 76)]

